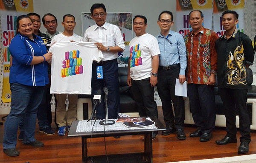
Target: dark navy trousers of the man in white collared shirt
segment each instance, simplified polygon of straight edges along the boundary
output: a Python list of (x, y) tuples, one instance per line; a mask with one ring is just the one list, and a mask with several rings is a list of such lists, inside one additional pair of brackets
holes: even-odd
[[(96, 67), (102, 66), (103, 79), (97, 79)], [(119, 81), (118, 81), (118, 65), (116, 59), (103, 63), (93, 62), (92, 70), (92, 98), (99, 89), (108, 87), (108, 118), (118, 118), (119, 113)], [(105, 93), (102, 90), (102, 101), (97, 105), (97, 119), (105, 119)]]

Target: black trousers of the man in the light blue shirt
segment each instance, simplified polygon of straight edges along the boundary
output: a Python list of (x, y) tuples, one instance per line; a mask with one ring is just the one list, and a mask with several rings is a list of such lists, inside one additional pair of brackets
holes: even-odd
[(169, 70), (163, 70), (163, 67), (158, 68), (157, 92), (162, 101), (163, 120), (166, 123), (166, 128), (175, 126), (176, 129), (183, 129), (184, 126), (184, 100), (181, 96), (175, 96), (175, 83), (179, 78), (179, 73), (179, 65)]

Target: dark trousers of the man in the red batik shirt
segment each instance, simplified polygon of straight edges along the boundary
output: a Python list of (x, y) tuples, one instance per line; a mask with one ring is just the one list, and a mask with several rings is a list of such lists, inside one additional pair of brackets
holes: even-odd
[(214, 86), (206, 84), (187, 85), (190, 111), (195, 125), (203, 133), (210, 133), (215, 127), (216, 110)]

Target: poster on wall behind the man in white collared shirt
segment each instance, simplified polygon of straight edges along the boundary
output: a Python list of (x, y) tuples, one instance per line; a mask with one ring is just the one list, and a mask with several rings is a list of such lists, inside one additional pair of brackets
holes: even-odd
[[(132, 12), (107, 13), (106, 22), (117, 25), (121, 30), (125, 41), (125, 51), (118, 53), (117, 62), (119, 67), (127, 66), (130, 56), (129, 43), (133, 39)], [(95, 21), (91, 17), (91, 14), (88, 12), (82, 13), (82, 33), (84, 34), (84, 31), (92, 25), (95, 25)]]

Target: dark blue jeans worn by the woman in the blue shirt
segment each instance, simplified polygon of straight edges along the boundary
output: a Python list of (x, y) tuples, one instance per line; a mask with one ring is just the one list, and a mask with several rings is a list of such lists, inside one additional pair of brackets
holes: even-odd
[(4, 124), (3, 149), (15, 148), (20, 120), (24, 119), (23, 143), (35, 141), (37, 107), (41, 103), (44, 86), (10, 84), (12, 91), (11, 111)]

